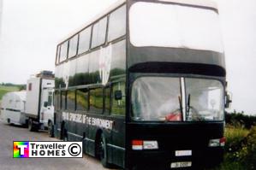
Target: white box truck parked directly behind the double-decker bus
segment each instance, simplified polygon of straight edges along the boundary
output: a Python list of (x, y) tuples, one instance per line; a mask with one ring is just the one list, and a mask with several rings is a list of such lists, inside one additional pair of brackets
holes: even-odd
[(27, 80), (25, 114), (28, 118), (29, 131), (47, 129), (53, 136), (53, 92), (54, 74), (42, 71)]

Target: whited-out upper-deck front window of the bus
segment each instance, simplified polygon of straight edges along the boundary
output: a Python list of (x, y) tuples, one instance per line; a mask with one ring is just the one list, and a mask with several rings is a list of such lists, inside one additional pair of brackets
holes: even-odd
[(136, 47), (184, 48), (223, 53), (217, 11), (210, 8), (210, 4), (207, 8), (206, 4), (204, 8), (199, 3), (182, 4), (134, 3), (129, 9), (130, 42)]

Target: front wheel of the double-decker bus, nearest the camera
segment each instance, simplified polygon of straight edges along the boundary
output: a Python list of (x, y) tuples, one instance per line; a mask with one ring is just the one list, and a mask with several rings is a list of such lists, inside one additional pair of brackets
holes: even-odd
[(104, 138), (104, 134), (101, 134), (99, 144), (98, 144), (98, 154), (99, 159), (103, 165), (103, 167), (110, 167), (107, 159), (107, 144), (106, 139)]

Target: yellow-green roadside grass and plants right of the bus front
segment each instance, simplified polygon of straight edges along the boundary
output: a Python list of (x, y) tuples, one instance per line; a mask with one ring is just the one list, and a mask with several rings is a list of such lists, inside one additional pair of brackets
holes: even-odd
[(250, 130), (240, 124), (225, 128), (225, 155), (223, 163), (214, 170), (256, 169), (256, 127)]

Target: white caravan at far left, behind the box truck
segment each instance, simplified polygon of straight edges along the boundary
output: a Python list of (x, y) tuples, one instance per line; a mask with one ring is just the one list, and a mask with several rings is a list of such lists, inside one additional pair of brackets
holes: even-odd
[(9, 124), (26, 125), (26, 91), (6, 93), (2, 98), (2, 119)]

